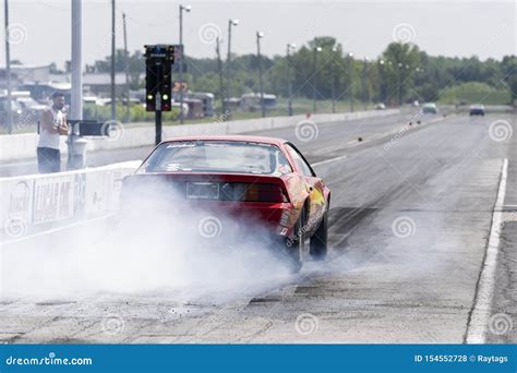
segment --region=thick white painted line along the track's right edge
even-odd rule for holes
[[[467,344],[484,344],[486,326],[489,325],[492,299],[495,286],[495,269],[497,267],[497,253],[500,246],[500,230],[503,220],[504,197],[506,194],[506,179],[508,177],[508,159],[504,159],[501,171],[500,188],[492,215],[489,245],[484,257],[483,268],[478,284],[474,305],[467,325]]]

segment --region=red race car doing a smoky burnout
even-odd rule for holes
[[[290,142],[261,136],[185,136],[165,141],[123,180],[122,203],[160,182],[190,209],[257,221],[294,272],[309,239],[315,260],[327,253],[330,190]]]

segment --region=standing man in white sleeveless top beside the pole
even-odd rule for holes
[[[41,113],[39,124],[38,170],[40,173],[59,172],[61,170],[59,136],[69,133],[62,93],[52,94],[52,107]]]

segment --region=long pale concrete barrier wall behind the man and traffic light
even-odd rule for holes
[[[356,111],[346,113],[322,113],[311,117],[316,123],[349,121],[371,117],[385,117],[398,113],[399,109],[378,111]],[[167,125],[164,127],[163,139],[170,139],[182,135],[200,134],[237,134],[252,131],[264,131],[285,127],[294,127],[305,119],[305,116],[294,117],[272,117],[236,121],[215,121],[211,123]],[[121,127],[121,131],[116,132],[112,139],[88,139],[87,151],[128,148],[151,145],[154,143],[154,125],[147,123],[142,127]],[[36,145],[38,135],[36,133],[23,133],[13,135],[0,135],[0,161],[19,160],[34,158],[36,156]],[[67,153],[65,137],[61,137],[61,151]]]

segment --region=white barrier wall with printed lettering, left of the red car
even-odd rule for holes
[[[16,239],[73,219],[116,212],[122,179],[140,164],[136,160],[80,171],[0,178],[0,233]]]

